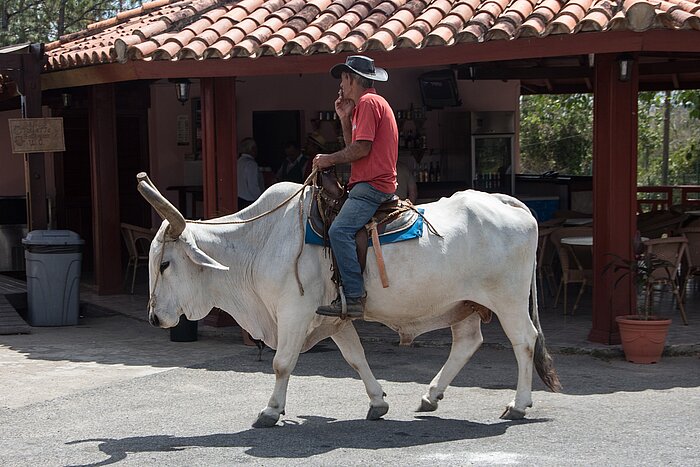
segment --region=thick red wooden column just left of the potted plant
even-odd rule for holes
[[[633,257],[637,231],[637,93],[636,61],[630,77],[620,79],[613,54],[595,56],[593,108],[593,323],[588,339],[618,344],[615,316],[634,313],[636,289],[629,275],[613,287],[603,275],[609,254]]]

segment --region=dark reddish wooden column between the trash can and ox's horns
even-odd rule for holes
[[[122,291],[117,127],[113,84],[89,94],[90,179],[95,281],[100,295]]]

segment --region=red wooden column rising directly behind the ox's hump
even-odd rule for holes
[[[207,218],[238,210],[235,86],[234,78],[201,81],[204,215]]]

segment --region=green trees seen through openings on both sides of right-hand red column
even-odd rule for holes
[[[664,99],[639,93],[639,185],[663,180]],[[700,184],[700,91],[673,91],[670,103],[668,183]],[[523,96],[520,112],[521,172],[591,175],[592,94]]]

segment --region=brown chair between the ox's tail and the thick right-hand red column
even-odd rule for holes
[[[561,281],[559,281],[559,289],[557,297],[554,299],[554,306],[559,303],[559,295],[564,291],[564,314],[567,313],[568,297],[567,288],[569,284],[581,284],[578,297],[571,310],[573,315],[578,307],[583,290],[587,284],[593,284],[593,250],[591,247],[576,248],[562,244],[561,240],[567,237],[587,237],[593,236],[592,227],[562,227],[553,231],[549,238],[552,241],[557,253],[559,254],[559,263],[561,265]]]

